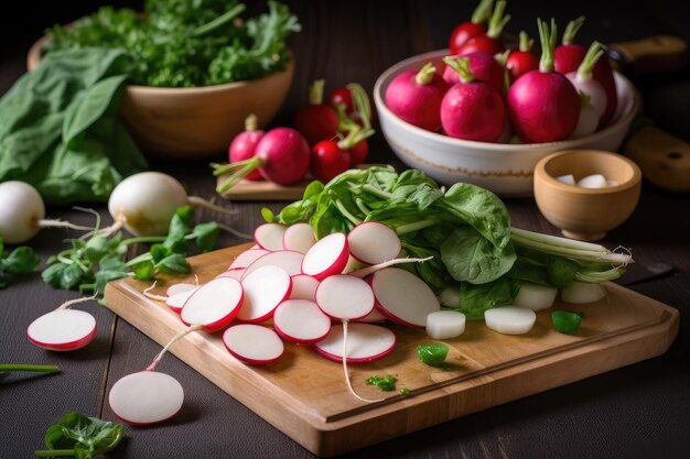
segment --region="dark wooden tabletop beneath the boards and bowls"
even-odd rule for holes
[[[25,4],[24,4],[25,3]],[[94,8],[24,2],[17,17],[3,13],[0,50],[0,94],[24,72],[24,55],[45,26],[65,22]],[[57,3],[57,2],[56,2]],[[115,2],[126,4],[127,2]],[[137,4],[136,2],[129,2]],[[297,74],[289,99],[274,124],[285,124],[308,85],[324,77],[328,88],[359,81],[370,89],[391,64],[445,47],[453,25],[468,18],[474,1],[290,1],[303,24],[292,40]],[[514,1],[508,6],[513,32],[535,31],[538,15],[556,17],[560,24],[585,14],[583,42],[605,43],[650,34],[676,33],[689,39],[690,14],[682,2],[580,1],[571,4]],[[36,13],[42,11],[42,13]],[[31,18],[31,19],[30,19]],[[36,21],[36,18],[40,21]],[[533,33],[533,32],[532,32]],[[690,74],[688,70],[635,79],[645,98],[646,114],[662,128],[690,141]],[[1,120],[0,120],[1,121]],[[223,160],[219,155],[218,160]],[[373,161],[396,162],[380,134],[373,141]],[[151,167],[175,175],[194,194],[214,196],[207,161],[175,163],[152,160]],[[530,198],[506,204],[513,223],[556,233]],[[542,394],[466,416],[353,452],[348,457],[390,458],[688,458],[690,457],[690,200],[645,183],[633,217],[611,231],[604,243],[632,248],[638,264],[667,262],[672,275],[630,285],[642,294],[680,309],[680,332],[668,352],[627,368],[569,384]],[[259,209],[280,203],[224,203],[239,217],[226,222],[249,232],[260,221]],[[106,220],[104,206],[96,206]],[[48,216],[87,223],[89,218],[69,208],[50,208]],[[202,218],[222,217],[203,214]],[[31,245],[45,260],[77,236],[66,230],[43,231]],[[223,236],[219,243],[242,242]],[[60,374],[0,375],[0,458],[32,456],[43,446],[48,425],[69,412],[115,419],[107,394],[115,381],[139,371],[160,350],[144,335],[108,309],[88,308],[98,321],[90,346],[56,353],[31,346],[25,328],[75,292],[56,291],[39,274],[17,280],[0,291],[0,362],[58,364]],[[161,370],[185,387],[184,409],[173,420],[147,427],[126,427],[126,439],[108,457],[118,458],[306,458],[313,457],[290,438],[217,389],[173,356]]]

